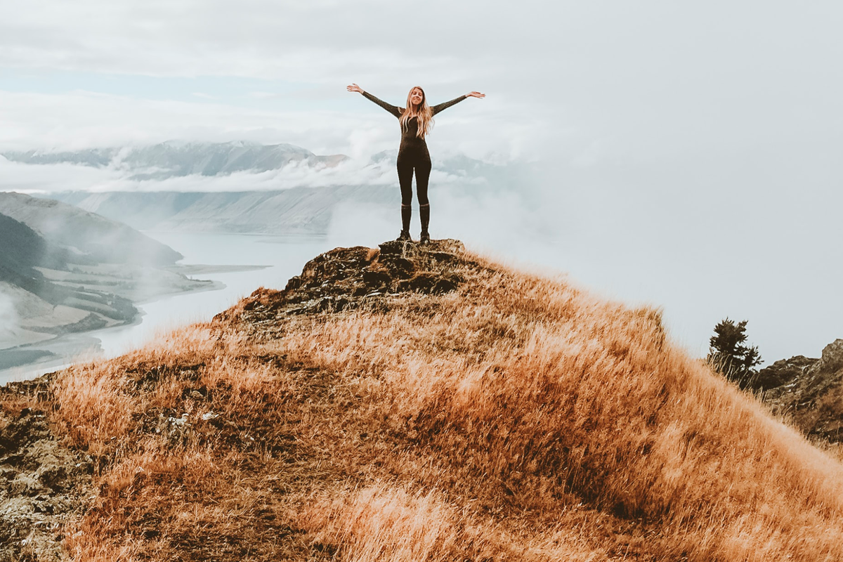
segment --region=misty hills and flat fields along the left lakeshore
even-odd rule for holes
[[[125,224],[30,195],[0,192],[0,240],[0,380],[71,352],[58,336],[131,323],[133,302],[215,286],[182,275],[181,254]]]

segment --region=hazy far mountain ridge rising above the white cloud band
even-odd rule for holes
[[[28,164],[71,163],[94,168],[124,169],[131,179],[167,179],[191,174],[212,176],[234,172],[266,172],[290,163],[332,167],[348,157],[318,156],[292,144],[262,145],[252,142],[162,142],[151,147],[90,148],[75,152],[3,153],[13,162]]]

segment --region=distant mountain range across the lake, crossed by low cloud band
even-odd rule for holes
[[[287,187],[289,181],[283,182],[287,188],[283,190],[248,190],[250,182],[244,179],[242,191],[235,187],[233,191],[210,192],[209,185],[209,192],[149,187],[131,191],[51,192],[39,196],[78,206],[138,230],[319,235],[327,232],[336,206],[342,203],[398,204],[397,154],[396,150],[376,153],[368,161],[358,162],[357,168],[350,167],[347,174],[334,174],[330,181],[317,182],[312,179],[314,174],[319,174],[319,167],[336,166],[348,158],[341,154],[317,156],[290,144],[250,142],[164,142],[152,147],[94,148],[67,153],[29,151],[4,156],[30,165],[70,163],[108,167],[125,174],[126,178],[150,181],[234,172],[259,174],[298,163],[313,167],[314,173],[301,174],[300,185],[295,184],[295,179],[293,187]],[[433,169],[437,175],[433,189],[448,189],[479,200],[495,192],[522,188],[532,173],[529,166],[496,165],[463,155],[434,158]],[[298,171],[293,176],[298,177]],[[314,183],[321,186],[313,187]],[[196,185],[201,190],[201,182],[196,182],[194,189]],[[523,196],[524,190],[519,190],[519,194]]]

